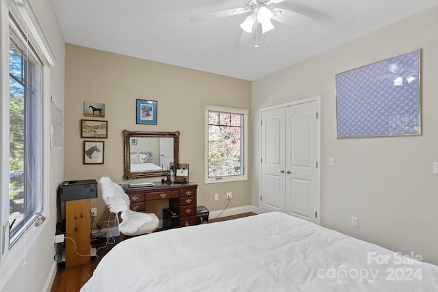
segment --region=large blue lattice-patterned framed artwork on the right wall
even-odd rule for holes
[[[420,52],[336,75],[338,138],[421,134]]]

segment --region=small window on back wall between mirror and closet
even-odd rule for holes
[[[205,183],[247,179],[248,111],[207,105]]]

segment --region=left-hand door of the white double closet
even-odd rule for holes
[[[261,213],[285,211],[285,108],[261,113]]]

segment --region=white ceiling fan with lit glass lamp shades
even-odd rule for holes
[[[278,4],[285,0],[245,0],[244,8],[231,8],[207,12],[190,17],[190,21],[206,21],[214,18],[228,17],[238,14],[249,13],[240,27],[247,33],[253,32],[253,27],[261,25],[261,33],[274,29],[272,21],[278,21],[292,27],[309,29],[313,26],[313,19],[284,8],[271,8],[272,4]]]

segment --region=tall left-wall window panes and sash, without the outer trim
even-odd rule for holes
[[[9,225],[12,242],[41,211],[42,64],[13,21],[9,39]]]

